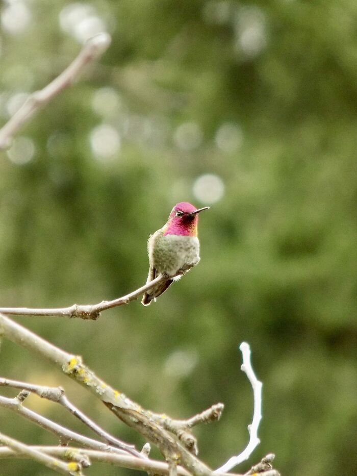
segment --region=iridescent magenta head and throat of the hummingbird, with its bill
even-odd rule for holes
[[[170,213],[164,235],[197,236],[198,213],[209,208],[197,209],[187,202],[178,203]]]

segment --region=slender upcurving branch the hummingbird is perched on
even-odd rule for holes
[[[81,319],[97,319],[101,311],[107,309],[122,306],[123,304],[129,304],[131,301],[137,299],[144,294],[145,291],[151,289],[153,286],[166,281],[167,277],[163,277],[161,274],[155,278],[155,280],[146,283],[141,288],[126,294],[125,296],[118,297],[112,301],[102,301],[93,305],[79,305],[73,304],[67,308],[49,308],[49,309],[31,309],[31,308],[0,308],[0,312],[4,314],[11,314],[13,316],[53,316],[53,317],[80,317]]]

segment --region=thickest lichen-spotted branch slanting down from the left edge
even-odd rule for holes
[[[180,462],[194,476],[212,475],[210,468],[152,418],[152,412],[142,409],[140,405],[99,379],[82,363],[81,357],[67,354],[2,314],[0,314],[0,332],[4,337],[49,360],[66,375],[90,390],[124,423],[156,444],[168,461]]]

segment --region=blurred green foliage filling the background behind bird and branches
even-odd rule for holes
[[[200,216],[201,262],[156,304],[134,302],[96,322],[17,320],[83,355],[146,408],[184,418],[223,402],[221,421],[195,431],[199,456],[213,467],[247,442],[252,395],[238,351],[245,340],[264,383],[262,442],[236,469],[273,452],[290,476],[351,474],[357,4],[20,3],[28,13],[22,29],[20,17],[11,23],[7,4],[1,12],[2,123],[18,93],[43,87],[77,55],[74,37],[95,27],[88,17],[103,22],[113,43],[81,82],[20,131],[27,159],[16,150],[1,153],[1,305],[88,304],[136,289],[146,280],[149,233],[177,202],[210,205],[210,190],[199,195],[193,187],[202,174],[214,174],[224,193]],[[73,5],[87,8],[81,28],[80,15],[69,15]],[[108,129],[93,135],[103,124],[109,152]],[[2,375],[62,384],[98,423],[143,444],[36,356],[5,341],[0,357]],[[54,405],[35,397],[29,404],[89,434]],[[57,444],[6,410],[0,418],[11,436]],[[9,460],[0,473],[50,472]]]

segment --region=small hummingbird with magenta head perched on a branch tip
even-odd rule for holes
[[[198,208],[190,203],[175,205],[167,223],[147,242],[149,255],[149,275],[147,283],[160,273],[167,277],[185,274],[199,262],[199,241],[197,238],[198,213],[210,207]],[[176,277],[175,281],[181,276]],[[160,296],[173,279],[167,279],[145,292],[141,304],[148,306],[152,299]]]

